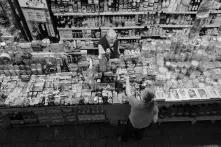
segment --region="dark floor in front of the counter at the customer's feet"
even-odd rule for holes
[[[0,130],[0,147],[221,147],[221,122],[150,126],[142,141],[120,143],[122,127],[108,124]]]

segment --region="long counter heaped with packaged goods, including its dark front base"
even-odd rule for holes
[[[119,59],[98,59],[74,42],[2,46],[1,125],[123,123],[132,91],[154,87],[159,122],[220,120],[220,38],[144,39]]]

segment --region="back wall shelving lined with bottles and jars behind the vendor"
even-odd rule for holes
[[[108,29],[115,29],[123,40],[141,40],[142,37],[130,38],[128,36],[142,36],[143,29],[150,30],[156,25],[160,29],[151,30],[154,33],[145,36],[153,39],[156,36],[165,38],[165,36],[173,35],[173,32],[168,33],[168,30],[176,32],[178,29],[190,29],[201,3],[202,1],[196,0],[190,0],[188,4],[182,1],[165,0],[148,2],[129,0],[76,0],[73,2],[67,0],[52,1],[51,9],[57,19],[57,28],[62,41],[79,40],[75,39],[75,32],[78,31],[82,31],[82,36],[90,35],[100,38]],[[221,10],[218,3],[212,3],[212,7],[209,8],[209,18],[204,26],[208,30],[220,27]],[[69,35],[64,37],[66,33]],[[82,40],[86,39],[82,37]]]

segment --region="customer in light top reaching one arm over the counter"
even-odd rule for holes
[[[126,94],[129,99],[131,111],[127,127],[119,137],[119,141],[127,141],[129,137],[142,139],[145,128],[158,119],[158,106],[153,100],[155,92],[153,89],[145,89],[140,97],[131,94],[129,77],[126,77]]]

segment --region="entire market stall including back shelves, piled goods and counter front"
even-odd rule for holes
[[[2,12],[12,8],[0,16],[2,24],[13,13],[24,39],[33,39],[0,27],[0,126],[125,123],[125,75],[135,97],[155,89],[159,123],[221,119],[219,1],[0,4]],[[97,56],[99,39],[110,29],[118,59]]]

